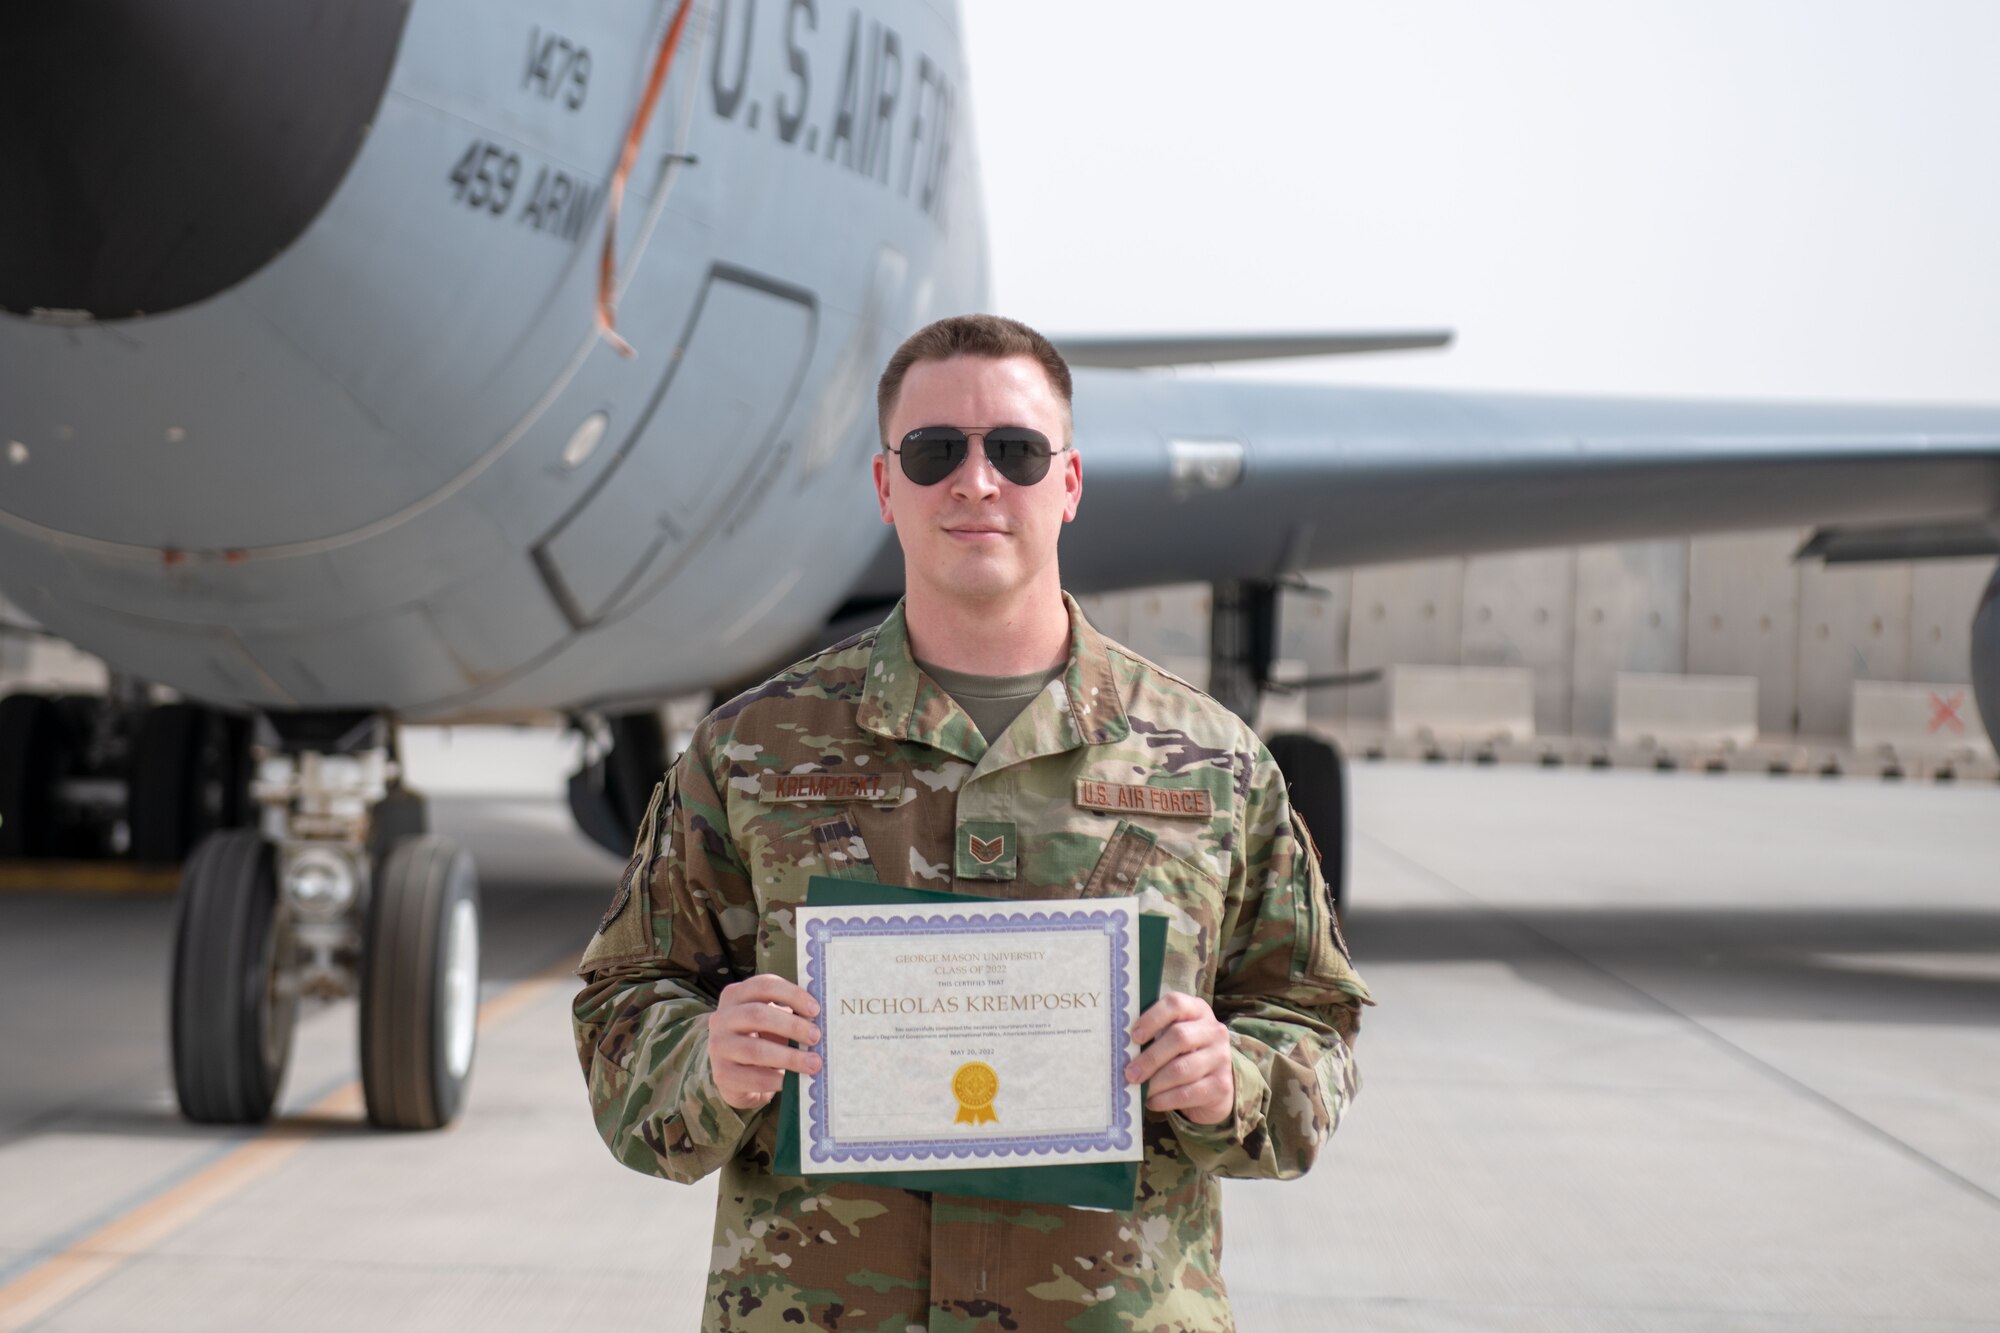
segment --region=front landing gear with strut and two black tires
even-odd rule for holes
[[[438,1129],[466,1099],[480,991],[472,857],[424,833],[386,719],[270,717],[258,831],[182,873],[174,1087],[188,1119],[270,1117],[302,1001],[360,997],[368,1119]]]

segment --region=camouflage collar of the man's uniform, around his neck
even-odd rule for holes
[[[1126,721],[1118,677],[1112,673],[1110,640],[1090,626],[1084,608],[1068,592],[1062,594],[1062,606],[1070,612],[1070,664],[1014,719],[998,743],[988,745],[964,709],[918,671],[902,602],[896,602],[876,630],[856,725],[890,741],[940,749],[982,769],[1124,741],[1132,723]]]

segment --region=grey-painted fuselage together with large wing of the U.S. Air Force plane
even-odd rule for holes
[[[892,590],[874,376],[986,304],[956,10],[698,8],[618,226],[622,360],[592,332],[602,190],[670,12],[418,0],[272,262],[158,316],[0,318],[0,590],[200,699],[416,719],[740,679]],[[536,78],[550,34],[582,84]],[[1098,370],[1076,422],[1078,590],[2000,508],[1992,408]]]

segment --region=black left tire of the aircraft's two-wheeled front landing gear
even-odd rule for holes
[[[202,839],[180,875],[170,1003],[174,1095],[190,1121],[270,1119],[298,1019],[290,961],[270,843],[250,829]]]

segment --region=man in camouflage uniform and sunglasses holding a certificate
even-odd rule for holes
[[[576,1045],[612,1155],[722,1171],[704,1329],[1228,1329],[1216,1177],[1300,1175],[1354,1097],[1368,991],[1270,753],[1062,592],[1068,402],[1062,358],[1012,320],[940,320],[898,350],[876,492],[904,602],[702,721],[584,955]],[[888,440],[940,424],[964,458],[918,484]],[[992,426],[1042,432],[1060,472],[1004,476]],[[1006,689],[982,683],[1024,699],[994,715]],[[1134,1025],[1130,1213],[772,1175],[772,1095],[818,1059],[790,1045],[818,1037],[792,923],[814,875],[1136,895],[1168,919],[1162,997]]]

